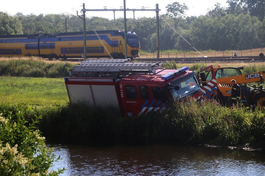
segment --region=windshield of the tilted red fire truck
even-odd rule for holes
[[[194,91],[200,90],[200,86],[193,74],[179,77],[170,84],[174,86],[167,85],[168,89],[171,92],[172,97],[176,97],[177,99],[187,96]],[[176,86],[179,86],[179,89],[175,89]]]

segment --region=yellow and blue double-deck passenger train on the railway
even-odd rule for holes
[[[125,58],[124,31],[86,32],[87,58]],[[59,33],[58,35],[0,35],[0,57],[40,56],[43,58],[82,58],[84,53],[83,32]],[[134,32],[127,32],[127,56],[140,57],[140,43]]]

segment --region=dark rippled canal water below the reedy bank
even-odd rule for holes
[[[204,146],[49,144],[62,175],[265,175],[265,154]]]

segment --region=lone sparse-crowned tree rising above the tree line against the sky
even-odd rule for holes
[[[177,29],[180,18],[184,17],[186,10],[188,10],[188,7],[185,3],[173,2],[166,6],[167,15],[173,18],[175,29]]]

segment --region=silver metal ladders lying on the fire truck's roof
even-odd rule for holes
[[[69,71],[75,76],[112,75],[124,76],[134,73],[157,74],[166,68],[163,63],[131,63],[129,59],[91,59],[74,66]]]

